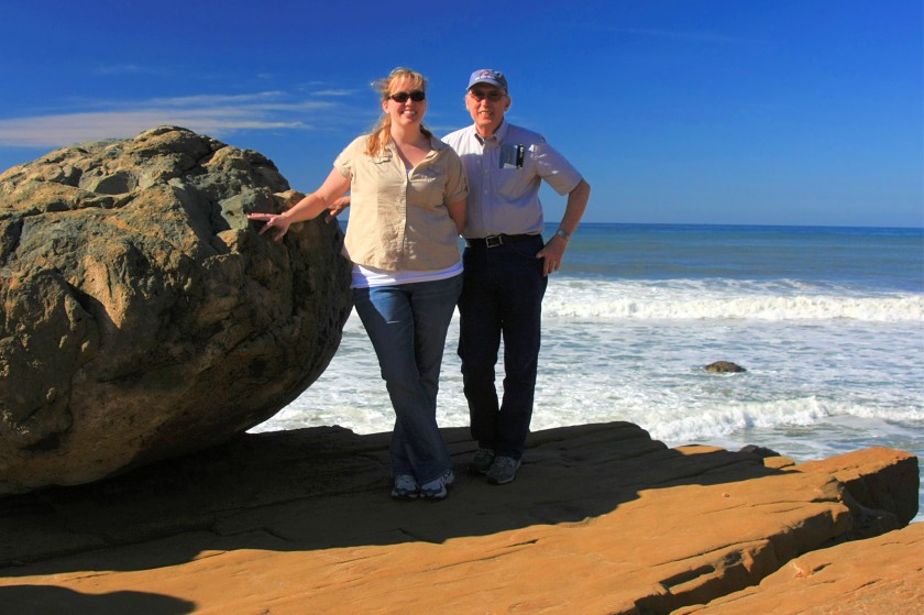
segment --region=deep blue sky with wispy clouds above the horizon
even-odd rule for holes
[[[923,24],[921,0],[9,0],[0,169],[177,124],[309,191],[373,79],[424,73],[442,135],[491,67],[593,186],[586,221],[921,227]]]

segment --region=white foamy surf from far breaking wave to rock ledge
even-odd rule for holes
[[[760,292],[557,279],[543,304],[532,428],[626,420],[668,446],[752,443],[796,461],[883,446],[924,458],[924,298],[754,286]],[[458,327],[457,317],[440,383],[442,427],[469,425]],[[717,360],[748,371],[703,370]],[[322,376],[253,431],[340,425],[372,433],[394,420],[353,314]]]

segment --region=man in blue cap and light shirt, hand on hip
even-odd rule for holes
[[[469,469],[502,485],[516,479],[529,433],[548,276],[561,265],[591,187],[542,135],[505,121],[510,96],[503,74],[475,70],[465,107],[474,124],[443,141],[469,175],[459,299],[459,356],[472,437],[479,442]],[[564,216],[548,243],[541,235],[542,180],[568,195]],[[502,337],[504,395],[498,402],[494,366]]]

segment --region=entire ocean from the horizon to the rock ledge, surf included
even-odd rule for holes
[[[627,420],[671,447],[759,444],[802,462],[880,446],[924,460],[924,229],[583,223],[543,323],[535,430]],[[442,427],[468,426],[458,327]],[[747,371],[704,370],[721,360]],[[252,431],[393,424],[353,312],[321,377]]]

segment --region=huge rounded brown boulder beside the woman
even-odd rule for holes
[[[340,230],[246,219],[293,196],[172,127],[0,175],[0,493],[224,441],[320,375],[350,311]]]

